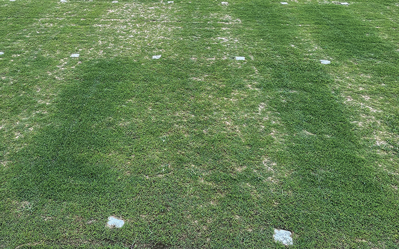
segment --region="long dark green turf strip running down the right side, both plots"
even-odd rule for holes
[[[267,23],[273,23],[278,18],[263,13],[261,9],[247,6],[245,10],[251,11],[251,14],[240,17],[256,16],[259,21],[264,20],[261,23],[264,27],[259,28],[264,32],[257,32],[265,39],[275,37],[270,27],[277,29],[280,23]],[[294,23],[310,24],[313,39],[322,46],[324,55],[338,61],[354,58],[358,62],[383,61],[378,66],[365,65],[366,69],[362,68],[362,71],[372,71],[372,74],[384,77],[384,82],[390,84],[392,90],[388,96],[395,101],[397,79],[391,78],[391,82],[387,79],[398,70],[397,65],[392,64],[398,59],[395,46],[379,38],[375,30],[359,21],[354,16],[355,11],[343,11],[332,5],[317,8],[314,5],[298,6],[292,11],[298,13]],[[281,43],[281,46],[296,44],[296,40],[287,35]],[[320,53],[318,55],[318,58],[313,54],[309,57],[316,57],[316,60],[323,58]],[[306,55],[293,58],[287,54],[283,66],[268,65],[273,69],[274,77],[263,83],[265,88],[272,87],[272,91],[269,90],[270,95],[274,95],[272,105],[280,113],[290,134],[287,151],[278,157],[281,162],[293,166],[294,173],[286,184],[295,190],[293,196],[284,202],[289,215],[282,220],[304,219],[309,226],[318,224],[317,230],[312,231],[317,238],[320,235],[323,238],[334,237],[335,233],[342,233],[339,237],[343,238],[345,233],[349,233],[355,238],[374,237],[373,242],[378,243],[380,232],[386,231],[393,241],[384,246],[395,248],[398,243],[395,225],[398,199],[391,184],[397,182],[397,178],[376,170],[376,165],[370,163],[376,160],[376,156],[367,153],[358,141],[354,126],[349,122],[351,113],[340,103],[340,98],[330,92],[329,85],[334,82],[329,74],[320,70],[322,66],[309,65],[301,58],[308,59]],[[393,110],[391,106],[389,108]],[[314,135],[306,135],[303,130]],[[298,207],[303,212],[294,215],[296,219],[291,218]],[[330,218],[326,219],[327,216]],[[393,223],[384,222],[388,220]],[[362,229],[357,229],[357,226]],[[310,234],[307,236],[311,237]],[[345,247],[347,242],[342,240],[337,243],[336,247]],[[340,243],[343,244],[338,246]]]

